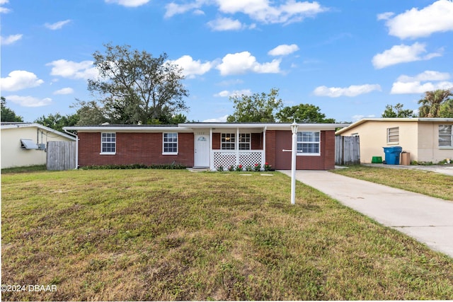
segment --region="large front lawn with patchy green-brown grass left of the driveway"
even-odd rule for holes
[[[286,175],[1,175],[3,301],[453,297],[453,259]]]

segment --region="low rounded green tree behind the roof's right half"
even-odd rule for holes
[[[326,119],[320,108],[311,104],[299,104],[292,107],[285,107],[275,115],[280,122],[299,123],[334,123],[335,119]]]

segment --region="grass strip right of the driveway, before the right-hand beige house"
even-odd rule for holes
[[[453,201],[453,177],[423,170],[351,165],[331,172]]]

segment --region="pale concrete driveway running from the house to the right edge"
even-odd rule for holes
[[[291,177],[290,170],[280,172]],[[453,202],[328,171],[297,170],[296,179],[453,257]]]

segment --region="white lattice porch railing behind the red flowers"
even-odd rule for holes
[[[231,165],[242,165],[245,170],[248,166],[254,168],[256,163],[261,167],[265,164],[263,150],[212,150],[211,158],[211,170],[217,170],[220,166],[226,170]]]

